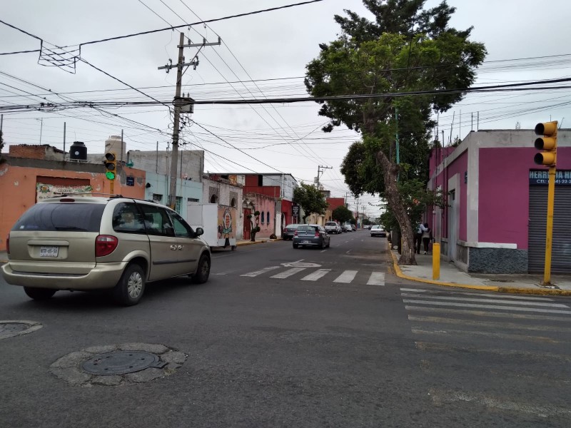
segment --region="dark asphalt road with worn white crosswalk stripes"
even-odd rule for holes
[[[104,292],[34,302],[0,280],[0,320],[42,326],[0,339],[0,426],[571,426],[569,298],[438,288],[388,267],[385,238],[359,231],[327,250],[213,253],[206,284],[148,285],[134,307]],[[117,386],[51,370],[133,342],[188,357]]]

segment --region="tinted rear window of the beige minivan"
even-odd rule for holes
[[[98,232],[104,209],[105,205],[96,203],[38,203],[12,230]]]

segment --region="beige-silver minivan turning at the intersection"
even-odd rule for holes
[[[146,282],[190,275],[208,280],[210,248],[170,208],[123,197],[65,195],[33,205],[6,240],[4,280],[32,299],[57,290],[112,289],[136,305]]]

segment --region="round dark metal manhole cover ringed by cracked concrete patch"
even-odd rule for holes
[[[161,362],[158,355],[143,351],[113,351],[94,355],[81,367],[93,374],[126,374],[140,372],[148,367],[162,369],[166,362]]]

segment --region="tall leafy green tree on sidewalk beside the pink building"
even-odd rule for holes
[[[416,264],[410,186],[403,182],[426,183],[431,114],[463,98],[486,51],[468,40],[471,28],[448,27],[455,8],[446,1],[428,10],[425,0],[363,4],[375,21],[352,11],[335,16],[342,34],[320,44],[319,56],[307,65],[305,86],[315,97],[371,95],[318,101],[319,114],[330,118],[323,131],[344,124],[361,133],[343,162],[345,183],[355,195],[380,193],[387,200],[403,233],[399,263]]]

